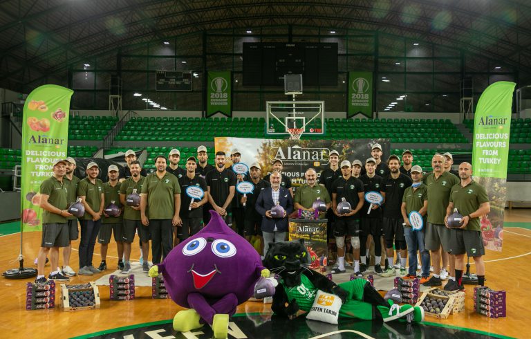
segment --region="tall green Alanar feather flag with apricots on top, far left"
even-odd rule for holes
[[[22,127],[22,232],[42,229],[41,183],[53,174],[53,163],[66,158],[68,111],[74,92],[44,85],[26,99]]]

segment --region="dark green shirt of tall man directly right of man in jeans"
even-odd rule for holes
[[[444,172],[436,179],[435,174],[430,173],[425,183],[428,187],[428,222],[444,225],[451,187],[459,183],[459,178]]]

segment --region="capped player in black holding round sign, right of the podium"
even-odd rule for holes
[[[368,158],[365,161],[365,174],[360,176],[360,180],[363,183],[364,192],[380,192],[382,190],[382,177],[375,174],[376,170],[376,161],[374,158]],[[371,211],[367,213],[367,211]],[[369,257],[369,247],[366,243],[371,243],[369,235],[372,236],[374,240],[374,253],[375,253],[375,273],[382,273],[382,266],[380,266],[382,260],[382,208],[380,205],[364,201],[363,211],[361,213],[361,230],[360,233],[367,237],[366,242],[362,242],[360,248],[360,259],[362,264],[360,265],[360,272],[366,270],[366,265],[369,265],[369,262],[366,260]]]

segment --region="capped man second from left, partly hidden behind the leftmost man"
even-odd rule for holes
[[[75,203],[77,201],[77,184],[80,183],[80,178],[74,175],[75,171],[75,160],[72,157],[64,159],[66,161],[66,174],[63,177],[64,183],[66,186],[66,191],[68,192],[68,205]],[[80,230],[77,226],[77,217],[71,216],[66,217],[68,223],[68,246],[63,248],[63,275],[68,277],[75,276],[75,271],[70,267],[70,255],[72,253],[72,241],[77,240],[80,236]]]

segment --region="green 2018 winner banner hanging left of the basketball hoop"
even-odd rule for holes
[[[216,113],[232,116],[230,71],[208,72],[207,118]]]

